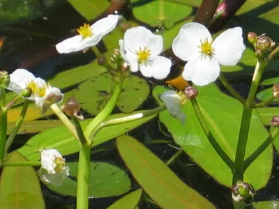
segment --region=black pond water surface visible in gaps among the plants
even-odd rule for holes
[[[82,15],[80,15],[80,13],[77,13],[70,3],[66,1],[53,1],[53,4],[49,3],[50,1],[43,2],[45,4],[43,4],[43,6],[40,5],[40,10],[38,9],[38,4],[34,3],[32,5],[34,8],[38,9],[37,13],[32,13],[31,11],[34,9],[31,10],[30,8],[29,16],[27,17],[19,17],[18,19],[15,18],[15,20],[10,22],[0,22],[0,38],[3,40],[3,47],[0,52],[0,68],[2,70],[13,72],[16,68],[26,68],[33,72],[37,77],[43,77],[44,79],[51,80],[54,79],[60,72],[76,68],[80,65],[86,65],[96,59],[96,56],[93,52],[91,52],[91,50],[84,54],[82,52],[73,54],[58,54],[58,52],[56,52],[54,45],[56,45],[57,42],[75,34],[75,29],[87,21],[84,17],[82,17]],[[140,1],[133,2],[139,3]],[[3,1],[3,3],[0,1],[0,6],[2,4],[5,5],[5,3],[6,1]],[[8,4],[6,4],[6,6],[7,5]],[[11,4],[8,6],[13,7],[16,5]],[[121,14],[125,17],[130,17],[130,8],[127,8],[126,10],[127,11],[121,11]],[[193,15],[196,10],[197,7],[194,7],[194,10],[189,14]],[[8,20],[8,18],[11,17],[6,17],[4,20]],[[135,20],[133,18],[131,18],[131,20],[134,22],[129,22],[129,24],[135,24]],[[170,25],[172,26],[172,24]],[[122,26],[125,27],[125,25]],[[167,26],[169,26],[169,24]],[[160,29],[160,32],[164,33],[162,26],[153,26],[151,29],[153,31]],[[107,43],[101,41],[98,43],[97,47],[100,52],[104,53],[107,50]],[[172,72],[171,77],[177,75],[178,72],[176,71],[179,71],[177,69],[178,68],[174,66],[174,72]],[[94,69],[92,69],[92,71],[93,70]],[[143,78],[140,73],[137,75]],[[227,75],[230,74],[228,73]],[[264,79],[277,77],[278,75],[278,72],[269,72],[264,75]],[[243,95],[243,97],[246,97],[250,87],[250,79],[251,75],[244,75],[241,77],[232,77],[229,82],[233,84],[236,91]],[[156,84],[163,84],[167,86],[163,82],[156,81],[156,79],[146,79],[146,81],[151,89],[153,89]],[[63,88],[63,92],[70,92],[77,88],[79,84],[80,82],[74,83],[73,85],[66,85]],[[229,95],[220,82],[217,82],[217,84],[223,92]],[[259,91],[264,90],[264,88],[266,87],[261,87]],[[20,104],[16,104],[15,108],[17,108],[17,105]],[[272,105],[277,107],[277,104]],[[153,109],[155,107],[157,107],[157,104],[152,95],[149,95],[149,97],[146,98],[138,109]],[[86,110],[83,109],[82,114],[85,118],[91,118],[92,114],[90,111]],[[120,112],[119,108],[116,108],[114,109],[113,114]],[[47,113],[45,116],[37,115],[33,116],[33,118],[39,121],[45,121],[54,120],[56,119],[56,116]],[[13,119],[14,118],[11,120]],[[187,121],[186,123],[191,123],[191,121]],[[53,125],[53,127],[55,126],[56,125]],[[49,127],[44,126],[40,127],[39,132],[43,132],[43,130],[48,128]],[[15,138],[15,142],[13,146],[11,146],[10,151],[23,146],[28,139],[36,134],[35,132],[37,131],[33,131],[31,129],[27,132],[27,134],[20,134]],[[179,149],[179,146],[174,142],[171,134],[167,130],[167,127],[165,127],[163,123],[160,123],[158,118],[153,118],[148,123],[135,128],[135,130],[128,132],[128,135],[135,137],[135,139],[139,139],[142,144],[149,148],[149,150],[156,154],[163,162],[167,162]],[[66,156],[67,162],[77,162],[77,160],[77,153]],[[128,167],[126,167],[126,164],[123,162],[114,140],[93,148],[91,151],[91,161],[108,162],[126,171],[131,180],[130,191],[141,187],[137,183],[137,180],[133,177],[132,173],[130,173]],[[206,161],[206,158],[204,161]],[[186,153],[179,155],[179,157],[177,157],[176,160],[169,165],[169,168],[172,169],[172,171],[174,171],[184,183],[214,203],[216,208],[233,208],[230,189],[220,185],[220,183],[202,170],[199,165],[193,161],[192,157]],[[278,168],[278,152],[274,148],[271,179],[266,187],[257,191],[254,201],[277,200],[279,198]],[[41,187],[43,189],[46,208],[76,207],[76,199],[74,197],[57,194],[51,189],[45,187],[43,183],[41,183]],[[125,196],[125,194],[110,196],[107,198],[92,197],[89,199],[89,208],[107,208],[123,196]],[[156,204],[149,199],[149,196],[144,194],[142,196],[142,201],[140,201],[139,208],[159,208],[159,206],[156,206]],[[250,206],[250,208],[252,208],[252,206]]]

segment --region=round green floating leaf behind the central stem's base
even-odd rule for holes
[[[67,162],[70,176],[60,187],[46,185],[54,192],[76,196],[78,162]],[[130,178],[126,171],[106,162],[90,162],[89,196],[94,198],[118,196],[131,189]]]

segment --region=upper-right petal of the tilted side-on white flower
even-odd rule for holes
[[[119,20],[119,15],[108,15],[107,17],[98,20],[93,25],[91,25],[91,30],[93,34],[98,36],[102,34],[104,36],[107,33],[110,33],[113,29],[115,29],[117,22]]]

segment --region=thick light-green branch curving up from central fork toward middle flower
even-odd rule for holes
[[[112,93],[112,97],[107,102],[107,104],[105,104],[104,109],[100,111],[100,113],[95,118],[93,118],[93,120],[89,123],[89,125],[86,127],[86,130],[84,131],[84,135],[87,139],[91,139],[92,132],[95,131],[95,129],[101,123],[103,123],[103,121],[105,121],[105,119],[108,116],[110,116],[116,105],[116,102],[118,101],[119,95],[122,90],[122,80],[115,80],[115,82],[116,83],[114,84],[114,91]]]

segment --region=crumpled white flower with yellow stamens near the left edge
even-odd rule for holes
[[[50,86],[44,79],[35,77],[28,70],[17,69],[10,74],[10,84],[7,89],[20,95],[24,88],[31,89],[32,94],[27,99],[35,100],[36,105],[42,109],[43,113],[50,105],[63,99],[63,94],[59,88]]]

